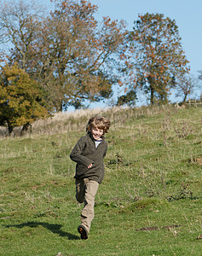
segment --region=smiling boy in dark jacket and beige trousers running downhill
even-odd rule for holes
[[[104,134],[108,132],[110,121],[104,117],[89,119],[87,134],[78,140],[72,149],[71,160],[77,163],[75,183],[76,199],[84,202],[81,224],[78,232],[81,239],[88,239],[91,222],[94,218],[95,195],[104,177],[103,159],[107,153]]]

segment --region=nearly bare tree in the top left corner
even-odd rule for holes
[[[35,47],[43,17],[42,6],[33,1],[5,1],[0,6],[0,38],[9,48],[9,64],[17,61],[26,73],[36,57]]]

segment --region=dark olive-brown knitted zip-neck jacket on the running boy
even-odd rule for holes
[[[104,137],[97,148],[95,148],[95,141],[90,132],[81,137],[70,154],[71,160],[77,163],[75,178],[88,177],[101,183],[105,172],[103,159],[106,153],[107,142]],[[90,164],[93,166],[88,168]]]

